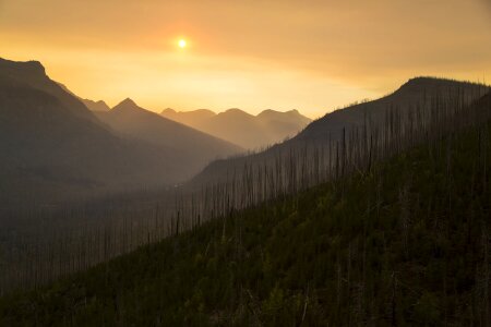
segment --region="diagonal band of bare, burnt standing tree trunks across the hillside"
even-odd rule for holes
[[[468,84],[457,85],[462,87],[443,87],[424,106],[407,109],[404,101],[402,107],[391,106],[376,121],[367,119],[361,126],[343,129],[339,140],[303,146],[287,143],[265,156],[212,165],[218,174],[211,181],[196,179],[157,192],[129,192],[55,209],[26,210],[24,216],[12,216],[15,220],[7,216],[0,229],[0,265],[9,269],[0,269],[0,295],[84,271],[230,210],[370,171],[375,164],[415,146],[488,121],[489,94],[469,104]],[[476,85],[479,93],[486,89]],[[209,170],[202,175],[214,177]]]

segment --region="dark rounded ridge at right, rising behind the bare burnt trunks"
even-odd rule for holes
[[[420,108],[424,112],[438,101],[445,101],[450,98],[458,98],[458,101],[463,104],[470,104],[480,99],[488,92],[489,87],[479,84],[431,77],[414,78],[386,97],[327,113],[310,123],[296,137],[265,152],[213,162],[195,177],[193,183],[201,184],[212,180],[223,180],[226,171],[231,170],[239,173],[247,162],[271,165],[278,154],[287,154],[291,148],[326,145],[330,140],[339,141],[344,131],[348,134],[349,131],[362,128],[366,123],[372,128],[380,126],[384,123],[388,111],[406,117],[411,109]]]

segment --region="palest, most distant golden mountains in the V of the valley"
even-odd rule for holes
[[[188,112],[166,109],[161,116],[248,149],[265,147],[295,136],[311,121],[297,110],[265,110],[252,116],[240,109],[229,109],[218,114],[206,109]]]

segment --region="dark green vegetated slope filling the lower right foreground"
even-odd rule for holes
[[[0,300],[0,325],[490,325],[491,124]]]

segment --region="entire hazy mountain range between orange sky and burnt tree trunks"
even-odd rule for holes
[[[468,104],[488,90],[478,84],[418,77],[386,97],[327,113],[310,124],[296,110],[252,116],[239,109],[218,114],[167,109],[166,118],[131,99],[107,110],[106,104],[82,100],[50,80],[37,61],[0,59],[0,204],[59,203],[190,179],[190,185],[219,182],[227,171],[240,171],[248,162],[271,164],[294,147],[340,140],[343,131],[367,121],[383,124],[390,110],[424,111],[451,94]],[[280,142],[304,125],[286,142],[237,156],[243,148]]]

